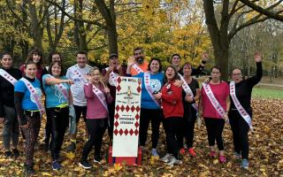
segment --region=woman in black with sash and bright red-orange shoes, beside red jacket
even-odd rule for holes
[[[200,97],[200,87],[198,81],[192,77],[192,65],[190,63],[185,63],[182,69],[183,76],[181,80],[184,82],[182,85],[183,88],[183,105],[184,105],[184,117],[182,119],[182,132],[178,136],[179,150],[180,154],[183,155],[186,153],[186,150],[183,146],[183,137],[186,138],[187,143],[187,152],[195,157],[195,150],[193,149],[194,142],[194,128],[195,120],[198,111],[198,107],[195,104]]]

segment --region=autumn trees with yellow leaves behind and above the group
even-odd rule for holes
[[[234,67],[255,73],[253,55],[264,58],[264,75],[282,76],[282,0],[2,0],[0,50],[15,65],[34,47],[60,51],[66,66],[75,51],[87,50],[95,65],[109,53],[121,61],[141,46],[148,57],[169,65],[173,53],[198,65],[210,54],[225,78]]]

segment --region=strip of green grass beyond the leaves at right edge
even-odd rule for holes
[[[252,97],[283,99],[283,90],[254,88]]]

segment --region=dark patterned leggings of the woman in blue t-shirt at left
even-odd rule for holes
[[[32,166],[34,164],[34,145],[37,140],[39,130],[41,127],[41,117],[40,115],[27,116],[27,128],[22,128],[26,136],[26,162],[27,166]]]

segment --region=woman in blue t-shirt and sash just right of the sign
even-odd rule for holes
[[[151,121],[151,155],[159,157],[157,143],[159,138],[159,125],[161,120],[161,109],[159,101],[154,94],[159,92],[164,83],[164,73],[159,58],[151,58],[147,72],[138,73],[134,77],[142,78],[142,103],[139,140],[142,147],[148,137],[149,121]]]

